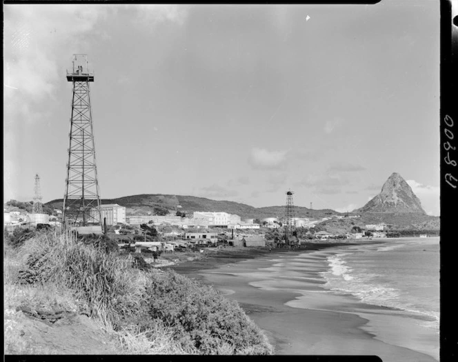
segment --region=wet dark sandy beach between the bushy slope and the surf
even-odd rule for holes
[[[294,252],[264,250],[245,255],[255,259],[229,258],[229,262],[225,257],[209,256],[200,265],[183,263],[174,269],[210,283],[237,300],[266,331],[275,345],[275,354],[376,355],[382,361],[438,361],[438,345],[402,314],[361,303],[350,295],[323,291],[323,281],[317,274],[324,271],[322,260],[341,246],[315,245],[315,250]],[[295,258],[300,258],[297,265]],[[286,259],[295,270],[289,270],[288,278],[283,279]]]

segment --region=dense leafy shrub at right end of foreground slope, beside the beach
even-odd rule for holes
[[[150,315],[172,327],[183,349],[215,353],[230,345],[236,354],[270,354],[266,336],[237,302],[208,285],[173,271],[157,274],[148,288]]]

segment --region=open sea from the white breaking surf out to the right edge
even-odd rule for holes
[[[327,262],[324,288],[404,311],[439,330],[439,238],[350,247]]]

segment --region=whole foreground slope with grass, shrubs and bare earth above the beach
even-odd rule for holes
[[[172,270],[142,270],[117,250],[46,232],[19,245],[5,239],[3,273],[6,354],[75,353],[78,325],[86,350],[75,354],[273,353],[237,302]],[[69,326],[61,345],[26,339],[37,328],[64,336]]]

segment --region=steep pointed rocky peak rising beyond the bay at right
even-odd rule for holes
[[[381,192],[358,211],[426,214],[412,188],[397,172],[388,177]]]

